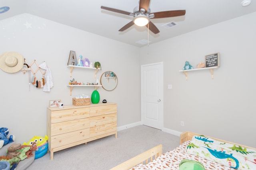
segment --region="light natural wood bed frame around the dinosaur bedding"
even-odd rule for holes
[[[201,134],[193,133],[193,132],[190,132],[190,131],[186,131],[186,132],[180,134],[180,144],[191,140],[194,135],[201,135]],[[205,136],[205,137],[209,137],[209,136]],[[224,141],[222,139],[217,139],[217,138],[214,138],[214,137],[209,137],[209,138],[256,150],[256,148],[248,147],[248,146],[245,146],[245,145],[240,145],[240,144],[237,144],[237,143],[232,143],[232,142],[229,142],[229,141]],[[141,153],[141,154],[125,161],[125,162],[123,162],[122,164],[119,164],[119,165],[115,166],[114,168],[111,168],[110,170],[128,170],[128,169],[130,169],[130,168],[132,168],[132,167],[134,167],[138,164],[147,164],[149,160],[152,161],[155,158],[157,158],[158,156],[160,156],[161,154],[162,154],[162,145],[158,145],[158,146],[156,146],[152,149],[147,150],[146,152],[143,152],[143,153]]]

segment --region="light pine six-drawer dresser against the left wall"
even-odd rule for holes
[[[117,104],[47,108],[47,136],[50,158],[53,153],[109,135],[117,138]]]

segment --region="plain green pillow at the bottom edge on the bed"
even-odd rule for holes
[[[179,170],[205,170],[205,169],[200,162],[196,162],[195,160],[183,159],[180,162]]]

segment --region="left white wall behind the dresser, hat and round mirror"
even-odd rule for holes
[[[31,24],[28,27],[24,24]],[[69,80],[94,82],[94,71],[74,69],[70,78],[67,68],[70,50],[76,51],[91,62],[99,61],[102,70],[111,70],[118,76],[114,91],[98,88],[100,102],[118,104],[118,126],[140,121],[140,63],[139,48],[66,25],[44,20],[30,14],[22,14],[0,21],[0,54],[16,51],[28,63],[46,61],[54,78],[54,87],[43,92],[28,84],[28,72],[6,73],[0,70],[1,118],[0,127],[8,127],[18,143],[28,142],[34,135],[46,135],[46,108],[49,100],[61,99],[72,105],[72,97],[78,94],[91,95],[94,88],[74,88],[70,96]],[[42,74],[36,74],[42,78]]]

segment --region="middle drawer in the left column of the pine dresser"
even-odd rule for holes
[[[51,134],[52,136],[60,135],[62,133],[68,133],[90,127],[90,118],[77,119],[72,121],[63,121],[59,123],[53,123]]]

